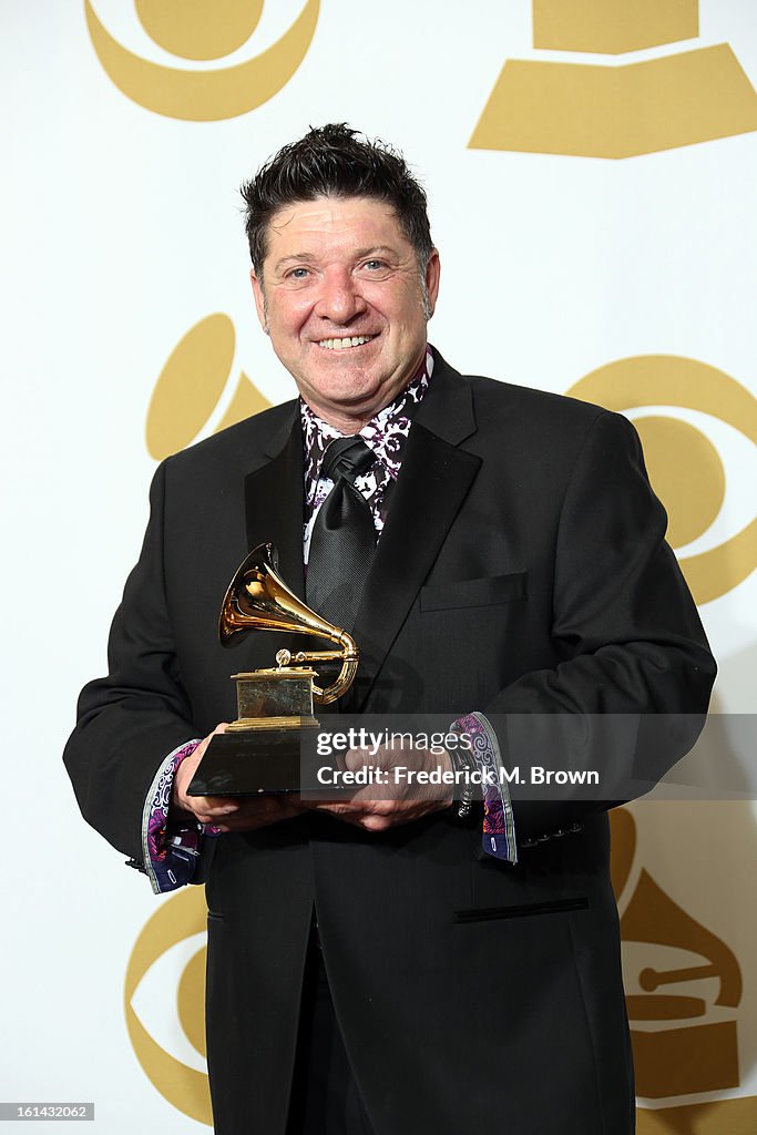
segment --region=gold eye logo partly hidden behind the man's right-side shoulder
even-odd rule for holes
[[[565,393],[622,412],[665,407],[665,413],[630,417],[641,437],[649,479],[668,513],[668,543],[683,553],[681,570],[698,604],[741,583],[757,565],[757,519],[714,547],[685,554],[718,516],[726,477],[709,438],[698,427],[667,413],[667,407],[707,414],[757,443],[755,396],[722,370],[678,355],[619,359],[591,371]]]

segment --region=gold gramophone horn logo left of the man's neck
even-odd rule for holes
[[[227,388],[234,323],[220,312],[190,328],[158,376],[148,410],[148,452],[162,461],[183,449],[211,419]],[[213,432],[266,410],[270,402],[242,371]]]

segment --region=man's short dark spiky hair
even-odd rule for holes
[[[426,193],[402,154],[390,145],[359,135],[346,123],[311,127],[291,142],[242,186],[245,230],[255,275],[266,259],[268,225],[284,205],[316,197],[372,197],[386,201],[413,245],[421,272],[431,249]]]

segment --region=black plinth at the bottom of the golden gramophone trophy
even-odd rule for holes
[[[208,746],[187,789],[188,796],[258,796],[300,792],[302,737],[298,729],[237,728],[217,733]],[[310,777],[306,777],[310,781]]]

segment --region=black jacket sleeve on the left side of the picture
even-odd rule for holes
[[[165,466],[108,642],[109,676],[84,687],[64,760],[84,818],[143,859],[143,813],[166,755],[196,735],[174,648],[163,577]]]

